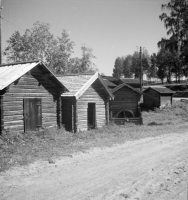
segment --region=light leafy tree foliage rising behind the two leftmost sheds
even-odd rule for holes
[[[93,50],[83,45],[82,57],[72,58],[75,44],[66,30],[55,38],[48,23],[36,22],[23,35],[16,31],[7,43],[4,50],[7,62],[43,60],[55,73],[62,74],[96,71],[92,63]]]

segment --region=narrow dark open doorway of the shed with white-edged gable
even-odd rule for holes
[[[88,103],[87,109],[88,130],[96,128],[96,104]]]

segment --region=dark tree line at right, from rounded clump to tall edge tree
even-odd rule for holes
[[[157,53],[142,55],[143,72],[148,78],[158,77],[162,82],[166,79],[170,83],[172,77],[180,82],[182,76],[188,77],[188,0],[171,0],[162,5],[162,9],[169,13],[159,16],[164,22],[168,39],[162,38],[158,42]],[[139,77],[138,52],[117,59],[121,62],[115,62],[113,76]]]

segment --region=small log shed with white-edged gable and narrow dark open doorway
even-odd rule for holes
[[[84,131],[109,122],[112,93],[99,73],[67,75],[59,80],[70,92],[61,95],[61,123],[68,131]]]

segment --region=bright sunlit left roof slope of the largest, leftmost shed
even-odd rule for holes
[[[38,65],[40,61],[20,64],[7,64],[0,67],[0,90],[10,85],[12,82],[23,76],[33,67]]]

